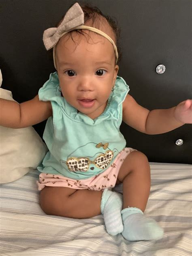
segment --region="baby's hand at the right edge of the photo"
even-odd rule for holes
[[[180,102],[175,107],[175,118],[185,124],[192,124],[192,99]]]

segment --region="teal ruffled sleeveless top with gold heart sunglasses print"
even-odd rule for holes
[[[70,179],[88,179],[111,166],[126,146],[119,127],[122,103],[129,86],[117,76],[104,112],[95,119],[71,106],[59,88],[58,73],[55,72],[38,92],[41,101],[51,101],[53,115],[48,118],[43,133],[49,151],[37,169]]]

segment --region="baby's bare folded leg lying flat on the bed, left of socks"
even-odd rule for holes
[[[40,204],[48,215],[75,219],[90,218],[101,214],[102,191],[45,187],[40,194]]]

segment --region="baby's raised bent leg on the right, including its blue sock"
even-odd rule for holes
[[[122,235],[129,241],[160,239],[163,230],[151,217],[143,214],[150,192],[150,166],[147,157],[130,153],[119,170],[117,179],[123,182]]]

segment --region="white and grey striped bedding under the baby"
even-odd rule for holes
[[[151,194],[145,214],[164,228],[158,241],[110,236],[102,215],[70,219],[45,215],[36,188],[38,171],[0,187],[0,255],[192,255],[191,174],[187,164],[150,163]],[[121,192],[122,185],[115,187]]]

